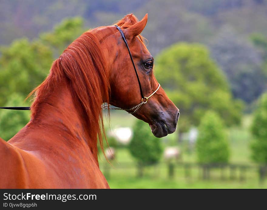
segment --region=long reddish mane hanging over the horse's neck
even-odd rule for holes
[[[99,40],[90,31],[83,33],[53,62],[47,78],[28,95],[35,95],[31,105],[31,122],[35,120],[42,104],[49,103],[48,96],[56,91],[59,81],[66,80],[74,102],[81,107],[87,132],[91,138],[98,136],[103,151],[101,132],[105,136],[105,131],[100,105],[103,100],[109,103],[110,84],[107,74],[106,58],[101,52]],[[96,148],[97,141],[90,144]]]

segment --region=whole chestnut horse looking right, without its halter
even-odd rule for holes
[[[140,35],[147,15],[130,14],[117,25],[124,32],[145,96],[159,86],[153,57]],[[0,188],[109,188],[98,164],[103,102],[121,108],[140,104],[140,87],[117,28],[83,33],[56,59],[33,90],[31,120],[8,142],[0,139]],[[160,87],[133,115],[157,137],[173,133],[178,108]]]

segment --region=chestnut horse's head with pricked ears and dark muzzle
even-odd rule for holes
[[[103,44],[109,58],[110,104],[129,109],[144,102],[132,115],[147,122],[156,137],[163,137],[176,130],[180,114],[154,76],[154,58],[140,35],[146,23],[147,14],[139,22],[130,14],[117,23],[125,35],[137,73],[123,35],[116,25],[108,27],[110,32]]]

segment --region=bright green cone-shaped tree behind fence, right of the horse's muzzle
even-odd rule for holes
[[[205,113],[199,125],[196,152],[200,163],[227,163],[230,150],[220,116],[213,111]]]

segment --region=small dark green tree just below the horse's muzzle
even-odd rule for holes
[[[163,152],[161,140],[154,137],[147,123],[142,120],[137,120],[134,124],[129,150],[137,160],[139,176],[143,175],[142,166],[157,163]]]

